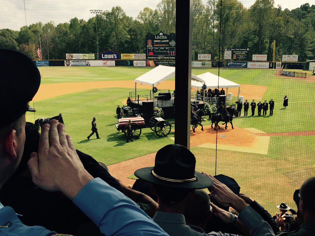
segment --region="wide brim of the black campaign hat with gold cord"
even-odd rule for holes
[[[203,189],[209,188],[213,185],[213,180],[205,176],[202,173],[195,171],[195,176],[197,180],[192,182],[172,182],[167,180],[159,179],[152,175],[153,167],[145,167],[135,171],[135,176],[139,179],[143,179],[147,182],[167,186],[174,188],[188,188],[188,189]]]

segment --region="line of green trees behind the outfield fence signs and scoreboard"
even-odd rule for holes
[[[38,22],[20,31],[1,29],[0,48],[19,50],[37,59],[41,37],[43,59],[65,59],[66,53],[95,53],[97,58],[97,21],[100,52],[145,53],[147,33],[175,32],[175,7],[175,0],[162,0],[156,9],[141,10],[137,19],[116,6],[87,21],[73,18],[58,25]],[[197,59],[198,53],[209,53],[218,60],[220,22],[221,57],[224,48],[249,48],[250,56],[267,54],[271,61],[275,40],[276,61],[283,54],[298,54],[299,61],[315,59],[315,5],[305,3],[289,10],[274,7],[273,0],[256,0],[245,8],[238,0],[224,0],[221,11],[220,0],[205,4],[194,0],[192,59]]]

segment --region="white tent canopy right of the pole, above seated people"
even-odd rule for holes
[[[225,78],[218,77],[210,72],[206,72],[204,74],[198,75],[198,77],[201,79],[201,81],[204,81],[204,82],[192,81],[193,88],[201,88],[203,86],[203,83],[207,85],[207,88],[216,88],[218,87],[218,80],[219,80],[219,88],[240,87],[239,84],[229,81]]]

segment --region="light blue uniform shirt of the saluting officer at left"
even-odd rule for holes
[[[132,200],[100,178],[87,183],[73,199],[76,204],[100,228],[106,236],[167,236],[153,220]],[[0,205],[1,236],[54,236],[56,234],[41,226],[26,226],[14,210]]]

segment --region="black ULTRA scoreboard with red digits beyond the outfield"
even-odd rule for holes
[[[175,60],[175,33],[146,35],[146,59]]]

